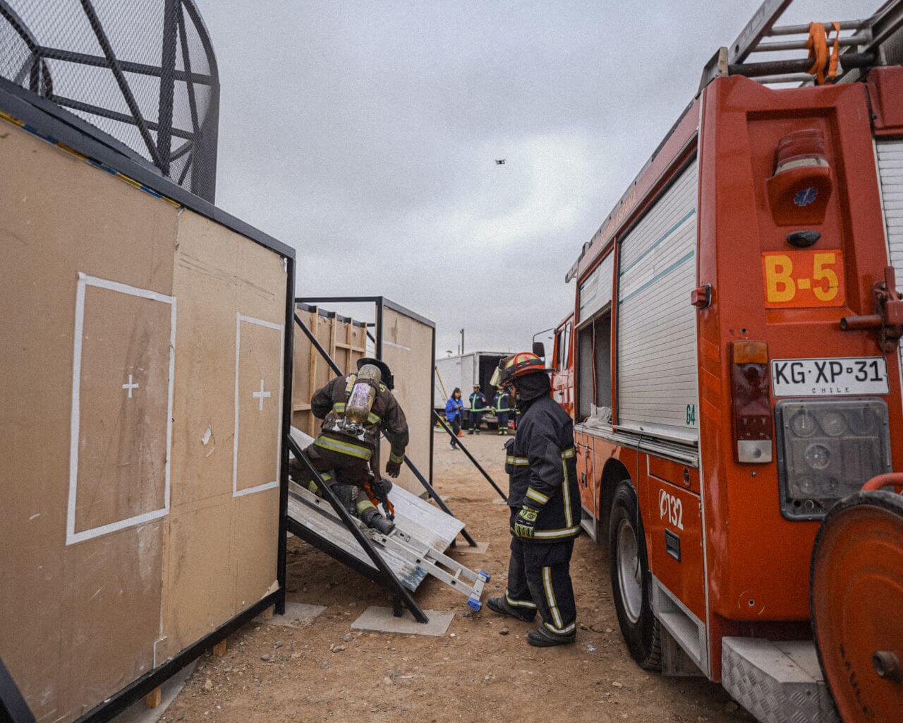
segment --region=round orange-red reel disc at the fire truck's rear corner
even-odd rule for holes
[[[809,592],[815,649],[846,723],[903,710],[903,496],[860,492],[824,518]]]

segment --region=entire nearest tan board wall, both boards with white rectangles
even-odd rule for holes
[[[0,165],[0,655],[69,723],[275,588],[279,491],[233,496],[235,390],[250,490],[279,475],[286,269],[5,121]],[[265,323],[244,361],[238,315]]]

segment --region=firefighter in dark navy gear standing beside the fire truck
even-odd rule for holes
[[[550,396],[544,366],[535,354],[521,352],[503,360],[497,372],[523,416],[515,438],[505,443],[512,534],[507,588],[487,601],[494,612],[526,622],[538,608],[543,624],[526,636],[538,647],[576,637],[570,568],[580,534],[573,423]]]

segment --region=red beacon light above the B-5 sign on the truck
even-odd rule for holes
[[[777,142],[768,202],[778,226],[822,223],[831,191],[831,165],[820,130],[798,130]]]

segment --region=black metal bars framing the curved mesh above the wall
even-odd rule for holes
[[[193,0],[163,0],[163,52],[160,66],[124,61],[116,57],[116,52],[107,37],[103,23],[98,18],[92,0],[79,0],[79,2],[103,55],[89,55],[42,45],[34,33],[23,23],[22,18],[14,12],[7,0],[0,0],[0,17],[13,27],[30,53],[28,60],[16,74],[14,82],[24,80],[24,75],[27,73],[28,88],[58,106],[135,126],[144,142],[147,155],[164,176],[169,177],[173,160],[186,154],[189,155],[177,183],[181,185],[184,182],[189,170],[197,171],[202,168],[203,174],[191,174],[191,192],[213,202],[216,197],[217,136],[219,133],[219,70],[207,27]],[[198,34],[209,65],[209,73],[191,71],[191,56],[188,49],[184,14],[188,14],[191,18],[191,23]],[[180,42],[177,42],[177,39]],[[181,47],[185,70],[175,69],[177,47]],[[47,61],[69,62],[110,70],[129,113],[120,113],[87,100],[70,99],[55,94]],[[156,122],[148,120],[142,114],[126,78],[126,72],[160,79]],[[184,82],[187,87],[189,107],[191,108],[191,131],[172,127],[173,100],[177,80]],[[203,118],[200,118],[198,114],[196,85],[208,86],[210,90],[209,107]],[[156,142],[151,136],[151,131],[157,133]],[[172,150],[173,136],[185,140],[185,143],[175,150]]]

